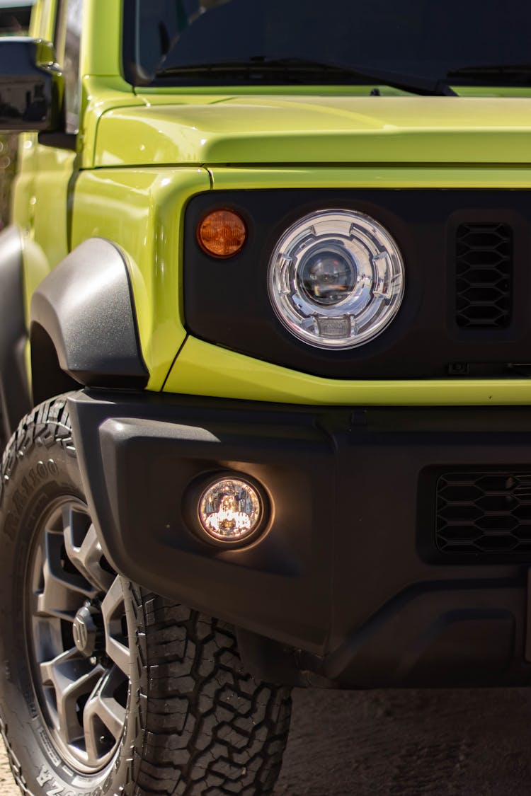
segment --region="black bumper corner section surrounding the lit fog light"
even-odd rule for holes
[[[116,397],[116,396],[114,396]],[[333,447],[311,416],[262,423],[184,401],[69,401],[84,481],[111,563],[131,579],[236,625],[321,650],[333,544],[319,488],[334,494]],[[304,464],[303,464],[304,462]],[[236,470],[275,494],[260,543],[220,550],[183,517],[202,474]],[[308,608],[312,606],[312,610]]]

